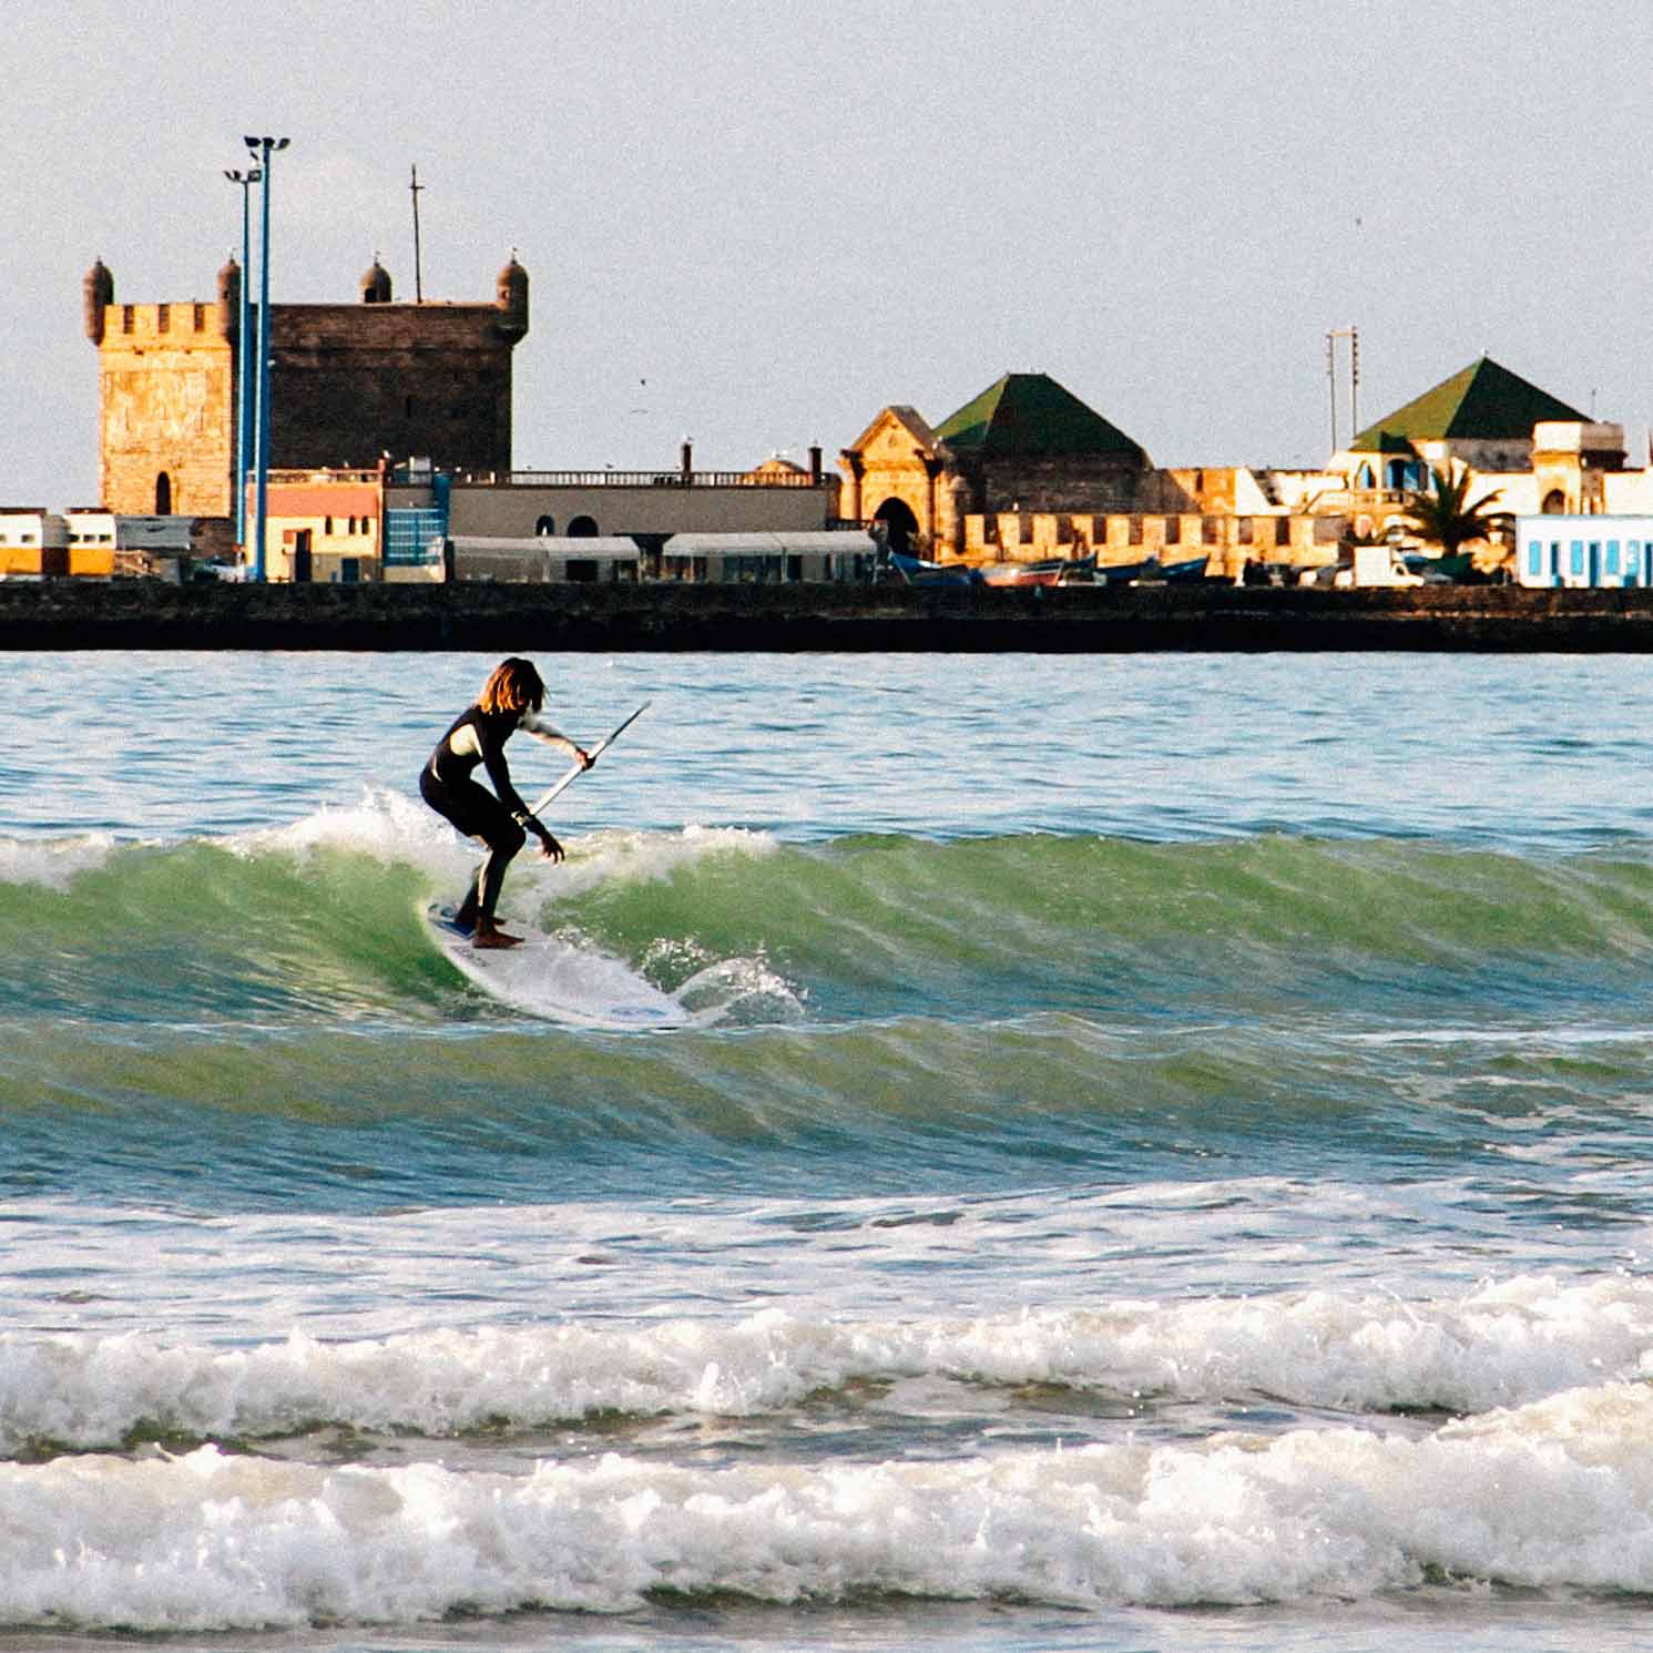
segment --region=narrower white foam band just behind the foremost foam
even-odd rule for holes
[[[602,1412],[754,1417],[851,1380],[1055,1384],[1122,1397],[1271,1395],[1346,1410],[1521,1405],[1653,1377],[1653,1284],[1512,1279],[1460,1299],[1312,1293],[974,1321],[835,1322],[779,1309],[430,1331],[250,1349],[149,1337],[0,1336],[0,1448],[119,1443],[139,1423],[200,1438],[326,1420],[441,1436]]]

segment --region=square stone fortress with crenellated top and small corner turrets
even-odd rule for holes
[[[99,364],[104,507],[231,516],[240,264],[218,271],[212,304],[117,304],[102,260],[83,291]],[[375,260],[359,304],[271,304],[271,468],[367,469],[388,453],[509,471],[511,352],[527,327],[527,271],[514,255],[493,302],[398,304]]]

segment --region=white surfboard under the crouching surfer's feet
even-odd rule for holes
[[[519,947],[473,947],[469,932],[453,922],[453,911],[426,907],[431,941],[468,982],[514,1010],[607,1033],[683,1028],[693,1022],[683,1005],[622,959],[532,931]],[[521,934],[521,926],[511,929]]]

